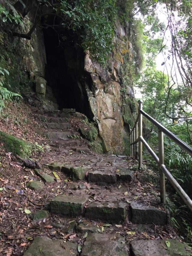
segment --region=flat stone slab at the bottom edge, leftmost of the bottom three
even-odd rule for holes
[[[51,240],[47,236],[35,237],[24,256],[69,256],[76,255],[77,244],[62,239]]]

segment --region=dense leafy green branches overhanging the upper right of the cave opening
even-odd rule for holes
[[[57,1],[54,8],[63,18],[62,25],[79,36],[84,51],[106,64],[113,48],[116,0],[63,0]]]

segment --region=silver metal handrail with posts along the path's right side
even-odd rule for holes
[[[171,183],[171,185],[176,189],[182,200],[186,203],[189,209],[192,211],[192,200],[190,197],[185,193],[176,179],[172,176],[172,174],[167,170],[166,166],[164,165],[164,139],[163,133],[167,135],[170,139],[172,139],[177,145],[179,145],[184,151],[186,151],[189,155],[192,156],[192,148],[188,146],[184,141],[179,139],[175,134],[170,132],[167,128],[157,122],[154,118],[149,116],[146,112],[142,110],[142,101],[139,100],[139,111],[134,123],[133,128],[130,131],[130,152],[131,155],[137,157],[139,155],[139,169],[142,168],[143,165],[143,149],[142,146],[144,145],[152,158],[155,162],[159,165],[159,172],[160,172],[160,197],[161,203],[166,202],[166,194],[165,194],[165,176]],[[159,157],[155,154],[149,144],[143,138],[143,126],[142,126],[142,118],[145,116],[152,124],[154,124],[158,128],[158,141],[159,141]],[[138,131],[139,128],[139,131]],[[137,145],[139,143],[139,146]]]

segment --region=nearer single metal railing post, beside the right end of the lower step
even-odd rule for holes
[[[164,141],[163,132],[158,129],[158,140],[159,140],[159,174],[160,174],[160,197],[161,203],[166,202],[165,198],[165,175],[161,170],[161,164],[164,164]]]

